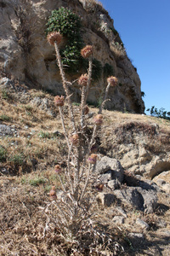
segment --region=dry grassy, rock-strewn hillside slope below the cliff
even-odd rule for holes
[[[1,255],[77,255],[72,251],[77,245],[59,236],[48,195],[52,185],[60,191],[54,165],[65,167],[67,153],[54,96],[5,76],[1,81]],[[79,106],[73,106],[78,114]],[[89,127],[97,112],[90,107]],[[67,106],[64,113],[69,125]],[[100,241],[99,253],[93,254],[88,234],[82,255],[169,255],[169,127],[164,119],[104,111],[96,137],[99,161],[119,160],[123,179],[116,184],[107,176],[103,191],[95,191],[93,221],[110,244]]]

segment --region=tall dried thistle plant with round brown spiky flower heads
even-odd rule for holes
[[[76,119],[74,108],[71,102],[71,93],[68,82],[65,77],[65,70],[59,55],[59,44],[62,41],[62,35],[59,32],[51,32],[48,34],[48,43],[54,46],[56,58],[58,61],[59,72],[62,79],[64,96],[55,96],[54,103],[59,108],[59,114],[65,140],[68,148],[67,166],[63,169],[61,166],[55,166],[55,172],[59,175],[61,188],[63,190],[60,199],[57,198],[55,188],[50,191],[52,198],[51,204],[58,209],[58,217],[56,219],[60,232],[67,241],[73,241],[79,236],[82,227],[90,224],[90,207],[92,206],[94,196],[92,196],[93,184],[96,182],[97,174],[95,172],[96,161],[98,158],[97,149],[95,147],[95,137],[99,127],[103,124],[102,108],[104,107],[108,91],[111,86],[116,86],[117,79],[110,77],[107,79],[104,102],[102,103],[99,113],[94,116],[94,127],[91,136],[87,133],[88,128],[88,106],[87,97],[92,76],[92,57],[94,55],[94,47],[87,45],[81,50],[83,58],[88,59],[88,72],[82,74],[78,79],[78,84],[82,88],[82,101],[79,111],[79,119]],[[71,129],[65,125],[65,116],[63,106],[65,102],[68,104],[68,111],[71,120]]]

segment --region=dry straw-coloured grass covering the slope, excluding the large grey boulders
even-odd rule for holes
[[[21,85],[14,86],[15,90],[21,88]],[[29,101],[20,102],[15,90],[1,91],[0,123],[12,127],[14,135],[0,137],[0,255],[77,255],[73,253],[76,247],[83,248],[82,255],[169,255],[168,235],[159,232],[157,224],[157,220],[163,217],[169,227],[170,205],[162,194],[153,214],[144,215],[124,205],[128,216],[125,224],[111,222],[117,214],[118,202],[109,208],[94,202],[91,211],[94,214],[95,236],[94,230],[89,227],[88,233],[78,237],[79,242],[68,239],[65,243],[61,230],[56,226],[58,210],[48,195],[52,185],[59,189],[54,165],[59,163],[65,167],[66,155],[54,96],[40,90],[28,90],[29,100],[35,96],[48,98],[48,107],[54,113],[50,115]],[[74,108],[77,109],[77,106]],[[90,109],[91,113],[98,112],[96,108]],[[147,134],[151,142],[156,137],[156,125],[162,131],[160,140],[167,142],[169,139],[167,120],[115,111],[105,110],[104,113],[105,125],[100,131],[99,143],[105,150],[107,147],[108,151],[110,147],[114,150],[114,143],[131,140],[133,132]],[[124,137],[125,131],[129,134],[128,138]],[[114,134],[118,142],[113,140]],[[92,190],[92,193],[95,191]],[[137,218],[143,218],[150,224],[150,230],[143,232],[144,240],[129,236],[129,233],[142,231],[135,224]],[[97,249],[94,250],[95,245]]]

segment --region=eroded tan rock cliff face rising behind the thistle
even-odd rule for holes
[[[71,9],[82,18],[83,40],[93,44],[94,57],[113,67],[119,84],[111,89],[108,109],[144,113],[139,75],[128,59],[113,20],[95,1],[85,0],[1,0],[0,1],[0,67],[15,79],[21,79],[54,94],[63,94],[54,48],[47,42],[45,29],[51,11],[61,6]],[[69,75],[75,80],[80,73]],[[105,88],[104,75],[93,81],[88,102],[98,104]],[[75,83],[73,100],[81,92]]]

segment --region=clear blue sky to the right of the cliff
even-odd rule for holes
[[[170,0],[99,0],[141,79],[145,108],[170,111]],[[148,113],[148,112],[146,112]]]

